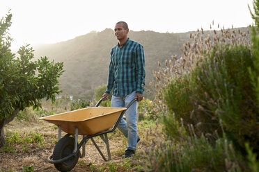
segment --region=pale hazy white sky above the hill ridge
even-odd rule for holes
[[[125,21],[132,31],[181,33],[210,28],[249,26],[253,0],[0,0],[0,16],[9,9],[13,48],[54,43]],[[217,28],[217,27],[216,27]]]

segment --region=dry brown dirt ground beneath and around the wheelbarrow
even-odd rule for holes
[[[6,126],[5,131],[6,133],[17,131],[19,135],[28,132],[40,133],[42,137],[44,137],[45,142],[43,146],[38,146],[36,143],[13,144],[15,153],[1,151],[0,149],[0,171],[24,171],[24,166],[33,166],[33,171],[57,171],[54,164],[47,162],[47,157],[52,155],[57,139],[58,130],[54,125],[45,121],[35,123],[15,120]],[[65,135],[66,133],[62,132],[62,134]],[[125,160],[121,155],[123,155],[125,151],[127,144],[126,139],[120,134],[118,129],[108,136],[111,150],[111,161],[108,163],[123,163]],[[79,139],[81,139],[81,137]],[[107,157],[106,145],[102,139],[95,137],[95,141]],[[136,152],[137,155],[138,152],[140,153],[140,151],[145,148],[144,142],[144,139],[141,138],[138,144],[138,151]],[[97,171],[96,169],[106,164],[107,162],[104,162],[91,140],[89,140],[86,144],[86,156],[79,158],[79,162],[77,162],[77,165],[72,171]],[[95,168],[93,168],[93,166],[95,166]],[[106,168],[103,171],[109,171],[109,169]],[[116,171],[125,171],[125,169],[117,168]],[[134,168],[129,168],[127,171],[134,171]]]

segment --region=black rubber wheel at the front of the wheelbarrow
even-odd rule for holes
[[[53,160],[61,160],[63,157],[71,155],[73,153],[73,150],[74,138],[65,136],[60,139],[54,147],[52,158]],[[54,166],[56,167],[56,169],[58,169],[58,171],[70,171],[77,164],[78,158],[79,152],[64,162],[54,164]]]

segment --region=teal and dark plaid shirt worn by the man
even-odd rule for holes
[[[113,46],[106,93],[110,94],[113,88],[113,96],[127,96],[133,91],[143,94],[145,75],[145,57],[141,44],[128,38],[122,48],[119,44]]]

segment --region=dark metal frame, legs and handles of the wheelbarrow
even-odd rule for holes
[[[97,104],[95,105],[95,107],[98,107],[100,105],[100,103],[102,102],[103,98],[100,99],[100,101],[97,102]],[[129,105],[127,105],[127,109],[137,100],[137,98],[134,98],[130,103]],[[126,109],[126,110],[127,110]],[[81,148],[81,146],[83,146],[82,148],[82,155],[80,155],[79,157],[85,157],[85,153],[86,153],[86,147],[85,147],[85,144],[86,142],[91,139],[91,141],[93,142],[93,144],[95,145],[95,148],[97,148],[98,152],[100,153],[100,155],[102,156],[102,159],[107,162],[109,160],[111,160],[111,152],[110,152],[110,148],[109,148],[109,140],[108,140],[108,133],[109,132],[113,132],[114,130],[116,130],[117,126],[118,126],[118,123],[120,122],[120,120],[123,118],[123,115],[125,114],[126,110],[123,110],[123,112],[121,112],[120,116],[118,117],[115,125],[113,126],[113,128],[109,129],[109,130],[104,130],[102,132],[97,132],[96,134],[93,134],[93,135],[83,135],[83,139],[80,141],[79,145],[78,144],[78,128],[75,127],[74,130],[75,130],[75,134],[74,134],[74,150],[73,150],[73,153],[66,156],[66,157],[63,157],[61,158],[60,160],[53,160],[52,157],[53,157],[53,154],[50,155],[48,158],[47,158],[47,161],[51,164],[58,164],[58,163],[62,163],[62,162],[65,162],[66,160],[69,160],[71,157],[74,157],[75,155],[77,155],[77,153],[79,153],[79,150]],[[72,134],[67,134],[65,135],[64,137],[69,137],[70,135]],[[104,141],[104,143],[106,144],[107,146],[107,154],[108,154],[108,159],[106,157],[104,157],[104,154],[102,153],[102,151],[100,150],[99,146],[97,146],[95,140],[93,139],[93,137],[97,137],[97,136],[100,136],[101,139]],[[61,126],[58,126],[58,141],[61,139]]]

